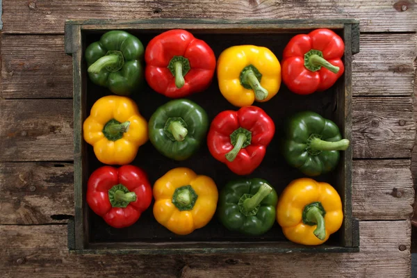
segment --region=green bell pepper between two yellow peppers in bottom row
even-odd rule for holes
[[[231,231],[259,236],[276,220],[278,196],[264,179],[230,181],[220,192],[218,217]]]

